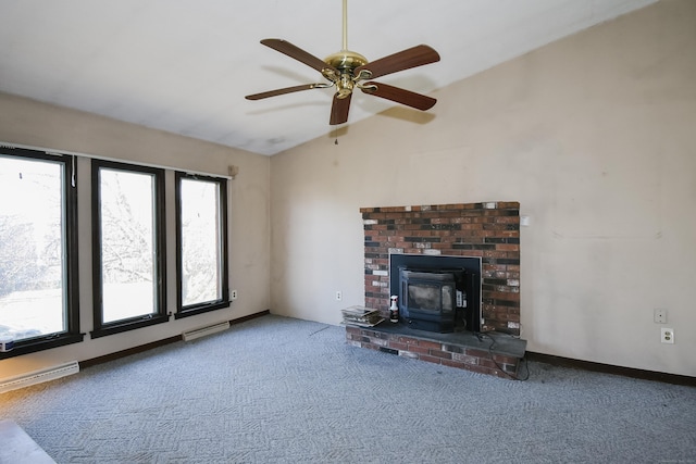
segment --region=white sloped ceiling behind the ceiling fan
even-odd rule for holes
[[[428,93],[654,1],[349,0],[348,48],[375,60],[430,45],[440,62],[378,79]],[[259,41],[323,59],[341,48],[341,0],[0,0],[0,91],[272,155],[332,131],[333,89],[245,100],[325,81]],[[348,124],[393,105],[358,92]]]

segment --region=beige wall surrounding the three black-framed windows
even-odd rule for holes
[[[186,317],[166,324],[132,330],[82,343],[0,361],[0,379],[67,361],[84,361],[148,342],[177,336],[182,331],[265,311],[270,308],[270,159],[240,150],[179,137],[86,113],[60,109],[0,93],[0,141],[52,150],[85,153],[182,171],[227,175],[229,165],[239,175],[229,190],[231,289],[239,298],[226,310]],[[89,178],[89,161],[78,159],[78,176]],[[173,200],[174,175],[167,172],[167,198]],[[79,281],[80,327],[92,329],[89,183],[80,185]],[[169,311],[176,311],[174,202],[169,202],[167,293]]]

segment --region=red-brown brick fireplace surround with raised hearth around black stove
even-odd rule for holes
[[[348,325],[347,340],[363,348],[517,378],[526,347],[515,338],[520,335],[519,211],[518,202],[362,208],[365,306],[388,318],[391,253],[481,258],[481,331],[486,335],[435,334],[382,323],[375,327]]]

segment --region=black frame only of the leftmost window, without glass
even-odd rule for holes
[[[77,241],[77,173],[75,156],[53,154],[26,148],[0,146],[4,156],[30,159],[62,164],[63,170],[63,252],[65,254],[63,275],[63,317],[65,330],[39,337],[16,340],[11,351],[0,352],[0,360],[22,354],[35,353],[66,344],[78,343],[85,334],[79,331],[79,278]],[[72,180],[72,181],[71,181]]]

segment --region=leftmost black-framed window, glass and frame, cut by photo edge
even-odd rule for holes
[[[0,149],[0,359],[83,340],[72,161]]]

